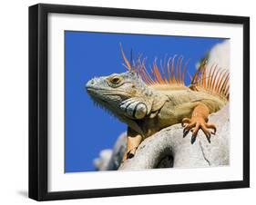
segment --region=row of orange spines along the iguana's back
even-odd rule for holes
[[[132,60],[128,62],[122,47],[121,52],[125,63],[124,66],[128,68],[129,71],[138,73],[146,84],[176,84],[184,86],[185,75],[188,73],[187,66],[189,60],[184,63],[183,66],[184,57],[182,55],[179,56],[175,54],[172,58],[169,58],[168,61],[166,61],[165,57],[164,62],[162,63],[162,61],[160,61],[159,65],[156,58],[152,63],[152,66],[149,66],[148,70],[146,67],[146,58],[141,61],[141,54],[138,55],[136,62]],[[148,71],[150,71],[150,73],[148,73]],[[212,64],[209,69],[207,67],[207,63],[201,63],[199,69],[193,76],[189,73],[188,75],[191,84],[200,87],[200,90],[204,90],[209,93],[216,93],[229,100],[230,73],[218,67],[217,64]]]

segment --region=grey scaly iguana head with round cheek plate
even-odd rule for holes
[[[87,93],[121,121],[143,119],[151,111],[152,91],[138,73],[113,73],[87,82]]]

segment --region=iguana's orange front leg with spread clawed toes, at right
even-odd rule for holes
[[[208,142],[210,142],[210,134],[215,134],[217,129],[213,123],[208,123],[208,116],[208,107],[204,103],[197,105],[192,112],[191,119],[184,118],[182,120],[181,124],[183,127],[185,127],[183,130],[183,137],[186,137],[189,131],[191,131],[191,143],[194,143],[196,141],[198,132],[201,129],[206,135]],[[210,129],[212,129],[213,132],[210,131]]]

